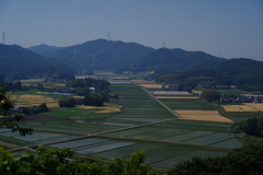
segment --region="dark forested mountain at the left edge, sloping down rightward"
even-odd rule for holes
[[[73,72],[62,65],[56,66],[47,58],[18,45],[0,45],[0,74],[8,79],[24,79],[54,72]]]

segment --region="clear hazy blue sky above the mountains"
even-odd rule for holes
[[[263,61],[263,0],[0,0],[0,43],[99,38]]]

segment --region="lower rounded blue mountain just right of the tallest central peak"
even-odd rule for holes
[[[132,66],[134,70],[178,71],[224,62],[226,59],[202,51],[160,48]]]

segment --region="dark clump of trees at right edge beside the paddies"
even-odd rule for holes
[[[263,117],[253,117],[240,122],[235,122],[231,125],[230,130],[233,133],[243,132],[250,136],[263,137]]]

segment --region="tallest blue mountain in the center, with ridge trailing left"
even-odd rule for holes
[[[28,48],[38,54],[52,57],[54,61],[62,61],[75,70],[115,70],[127,68],[141,57],[155,51],[136,43],[96,39],[83,44],[52,48],[35,46]],[[41,50],[41,51],[39,51]]]

